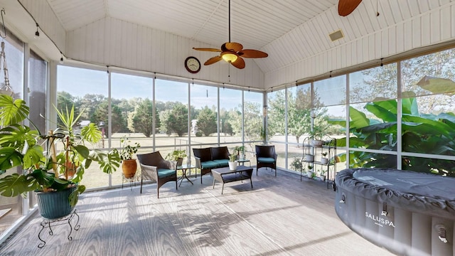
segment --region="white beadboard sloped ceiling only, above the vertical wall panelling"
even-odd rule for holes
[[[112,17],[219,47],[228,41],[228,0],[47,0],[66,31]],[[231,38],[269,53],[263,73],[319,55],[453,0],[363,0],[338,16],[338,0],[231,0]],[[380,16],[377,16],[377,12]],[[331,41],[341,29],[344,38]]]

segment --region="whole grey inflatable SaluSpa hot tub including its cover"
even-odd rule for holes
[[[397,255],[455,256],[455,178],[346,169],[335,185],[338,217],[363,238]]]

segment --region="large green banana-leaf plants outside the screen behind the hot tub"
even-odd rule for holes
[[[365,113],[350,107],[351,148],[397,151],[397,100],[368,102],[365,109],[377,119],[368,118]],[[346,127],[346,120],[331,119],[331,124]],[[454,113],[421,114],[415,97],[402,99],[402,151],[412,153],[455,155]],[[337,139],[337,146],[346,146],[346,137]],[[381,167],[395,168],[397,156],[372,152],[351,151],[350,168]],[[346,161],[346,153],[339,155]],[[404,156],[402,169],[455,176],[455,163],[445,159],[429,159]]]

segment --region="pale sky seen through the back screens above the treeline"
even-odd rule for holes
[[[108,95],[109,75],[107,71],[88,70],[58,65],[58,91],[69,92],[73,96],[88,94]],[[142,97],[152,99],[153,79],[137,75],[111,72],[112,98],[131,99]],[[196,109],[217,106],[217,87],[190,85],[191,105]],[[188,83],[156,79],[156,100],[166,102],[188,102]],[[245,91],[245,101],[262,103],[262,93]],[[220,88],[220,107],[227,110],[239,107],[242,91]]]

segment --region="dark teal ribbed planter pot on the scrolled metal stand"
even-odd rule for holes
[[[35,191],[38,201],[38,210],[41,216],[48,219],[61,218],[71,213],[74,209],[70,206],[68,197],[75,191],[77,186],[68,188],[64,191],[43,192]]]

